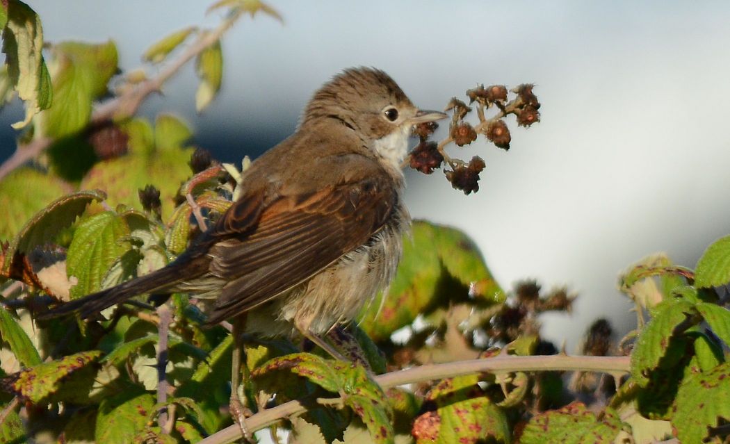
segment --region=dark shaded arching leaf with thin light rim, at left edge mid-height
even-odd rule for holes
[[[28,196],[27,192],[20,195]],[[89,203],[104,198],[106,195],[99,190],[74,192],[54,200],[38,211],[23,225],[10,244],[3,262],[3,273],[9,272],[16,254],[28,254],[36,246],[50,243],[61,230],[69,227],[84,212]]]

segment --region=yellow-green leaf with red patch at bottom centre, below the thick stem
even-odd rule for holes
[[[437,410],[413,422],[416,443],[510,443],[510,425],[504,411],[477,385],[477,375],[448,378],[426,394]]]

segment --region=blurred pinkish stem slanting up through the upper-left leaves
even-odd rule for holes
[[[231,28],[231,26],[236,23],[243,13],[243,9],[234,9],[234,11],[232,11],[228,17],[226,17],[226,19],[218,25],[218,28],[215,28],[210,32],[199,34],[196,42],[191,44],[191,46],[188,47],[188,49],[185,50],[179,58],[177,58],[177,60],[170,63],[169,66],[166,66],[165,69],[160,71],[160,74],[156,77],[140,82],[137,86],[130,88],[121,96],[112,98],[110,101],[99,105],[94,110],[93,114],[91,114],[87,128],[101,122],[106,122],[112,118],[123,118],[133,115],[137,112],[137,109],[139,109],[139,106],[143,101],[145,101],[147,96],[161,90],[164,82],[174,76],[174,74],[177,74],[177,71],[180,71],[180,68],[182,68],[185,63],[193,60],[193,58],[203,52],[203,50],[207,47],[218,42],[220,37],[228,31],[228,28]],[[54,139],[50,137],[40,137],[38,139],[34,139],[28,144],[18,145],[15,152],[13,152],[12,155],[8,157],[2,165],[0,165],[0,179],[7,176],[10,172],[15,170],[15,168],[18,168],[28,162],[28,160],[40,155],[45,151],[45,149],[53,144],[53,141]]]

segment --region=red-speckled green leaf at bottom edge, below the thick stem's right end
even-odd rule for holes
[[[571,402],[558,410],[533,416],[523,429],[519,443],[613,443],[623,427],[621,418],[611,408],[599,417],[586,409],[583,402]]]

